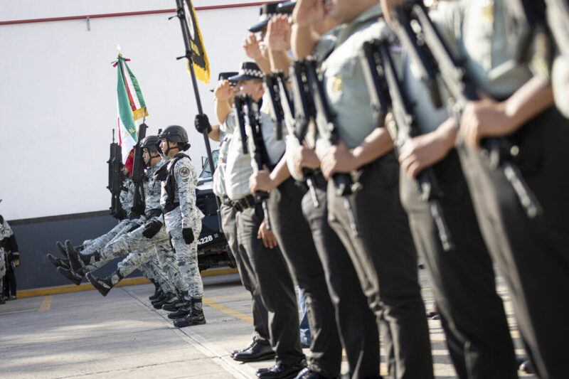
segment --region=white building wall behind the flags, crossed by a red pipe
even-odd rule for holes
[[[245,1],[196,0],[194,6]],[[158,0],[0,0],[0,21],[173,9]],[[105,210],[108,145],[116,129],[117,43],[137,76],[150,116],[149,133],[186,127],[194,164],[206,155],[193,128],[197,113],[186,72],[184,41],[174,14],[0,25],[0,213],[8,220]],[[199,82],[212,122],[220,71],[245,60],[246,28],[258,7],[198,11],[211,64],[210,85]],[[215,148],[216,143],[212,144]]]

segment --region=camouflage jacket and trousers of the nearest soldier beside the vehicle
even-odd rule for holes
[[[168,213],[164,213],[166,231],[171,238],[172,246],[178,257],[178,266],[188,283],[191,297],[203,297],[203,283],[198,269],[198,237],[201,233],[201,220],[204,217],[196,206],[196,185],[198,177],[190,159],[178,153],[167,163],[168,171],[173,168],[176,188],[174,189],[174,204],[179,204]],[[166,181],[162,181],[160,203],[164,208],[168,200]],[[187,245],[182,230],[193,230],[193,242]]]

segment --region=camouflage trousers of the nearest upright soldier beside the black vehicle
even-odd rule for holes
[[[178,267],[188,284],[190,296],[203,297],[203,282],[198,267],[198,238],[201,233],[201,219],[196,218],[189,225],[193,230],[193,242],[189,245],[186,244],[182,236],[180,207],[166,213],[164,223],[169,232],[172,247],[176,252]]]

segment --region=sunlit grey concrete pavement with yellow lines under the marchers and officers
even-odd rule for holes
[[[420,276],[428,309],[424,270]],[[243,364],[229,356],[250,341],[250,296],[237,274],[204,284],[208,324],[184,329],[151,307],[151,284],[115,288],[107,297],[87,291],[7,301],[0,305],[0,378],[255,378],[272,361]],[[500,279],[497,285],[522,355],[506,289]],[[436,378],[454,378],[440,321],[429,323]]]

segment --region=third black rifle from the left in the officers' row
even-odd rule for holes
[[[318,129],[327,131],[330,136],[330,143],[332,145],[337,145],[340,142],[340,137],[338,129],[336,129],[336,124],[334,124],[335,114],[331,111],[326,100],[324,85],[322,84],[322,80],[319,78],[317,72],[317,62],[312,58],[307,58],[299,64],[304,65],[305,67],[310,95],[312,95],[314,108],[316,109],[316,117],[314,120],[318,125]],[[294,108],[298,109],[298,106],[295,106]],[[356,217],[353,215],[353,208],[349,201],[349,196],[352,193],[351,186],[353,184],[351,175],[336,173],[332,176],[332,181],[334,181],[334,186],[336,187],[336,195],[344,198],[344,207],[346,207],[346,212],[348,213],[351,232],[354,236],[358,236],[359,230],[356,223]]]

